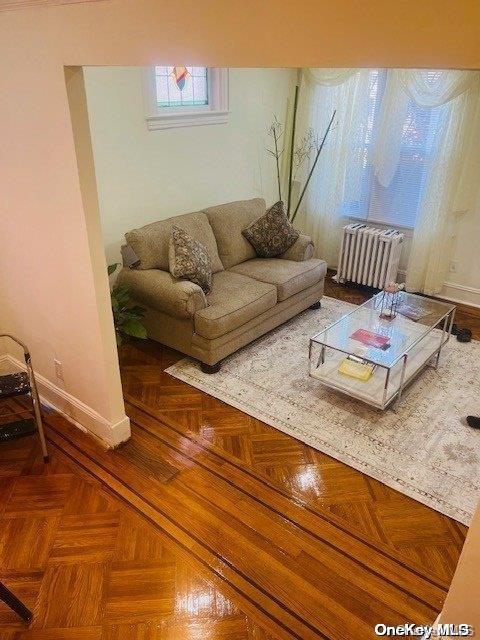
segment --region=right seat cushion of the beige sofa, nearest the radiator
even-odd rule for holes
[[[327,272],[327,264],[318,258],[303,262],[281,258],[254,258],[229,271],[275,285],[277,299],[281,301],[320,282]]]

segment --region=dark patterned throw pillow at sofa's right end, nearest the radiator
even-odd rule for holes
[[[260,258],[276,258],[290,249],[300,233],[291,225],[283,202],[276,202],[242,234]]]

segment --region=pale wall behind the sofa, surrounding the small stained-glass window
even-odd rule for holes
[[[227,124],[148,131],[140,67],[85,69],[108,262],[134,227],[231,200],[277,196],[266,152],[273,114],[285,121],[293,69],[230,69]]]

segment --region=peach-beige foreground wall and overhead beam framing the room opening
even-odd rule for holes
[[[58,354],[71,393],[117,419],[111,326],[97,304],[107,280],[92,269],[64,65],[480,68],[479,42],[477,0],[105,0],[0,13],[0,295],[38,369],[54,381]],[[466,552],[479,544],[472,528]],[[449,596],[458,615],[480,588],[478,565],[462,567]]]

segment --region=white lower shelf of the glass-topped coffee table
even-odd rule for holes
[[[415,350],[408,354],[405,369],[404,387],[429,363],[432,357],[438,354],[441,348],[441,337],[437,332],[425,337]],[[325,362],[318,367],[310,363],[310,375],[322,384],[349,396],[361,400],[378,409],[386,409],[398,396],[401,384],[403,358],[390,369],[387,390],[385,383],[388,369],[377,366],[372,377],[363,382],[345,374],[339,373],[338,366],[346,358],[346,354],[326,347]]]

